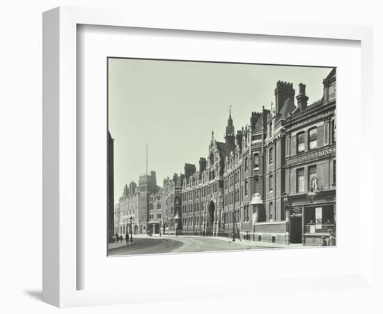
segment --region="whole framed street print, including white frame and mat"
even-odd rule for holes
[[[368,154],[347,174],[370,28],[56,8],[43,32],[44,301],[373,289]]]

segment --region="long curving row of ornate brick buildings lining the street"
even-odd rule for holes
[[[164,179],[162,188],[155,172],[142,175],[136,232],[330,244],[336,237],[336,70],[311,105],[304,84],[295,96],[291,83],[277,82],[274,97],[269,110],[251,112],[237,132],[229,112],[224,142],[212,132],[198,169],[185,163],[184,173]]]

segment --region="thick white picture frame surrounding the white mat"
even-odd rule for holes
[[[221,283],[189,287],[164,288],[162,293],[119,289],[77,290],[79,269],[77,264],[77,25],[114,27],[139,27],[143,29],[169,29],[178,31],[208,31],[210,33],[257,34],[263,36],[288,36],[290,38],[324,38],[357,40],[361,43],[361,103],[373,103],[373,30],[370,27],[329,24],[256,22],[243,20],[227,24],[219,20],[189,20],[175,16],[143,19],[134,12],[61,7],[43,15],[43,301],[59,307],[92,306],[133,303],[139,301],[171,301],[198,297],[217,297],[233,292]],[[373,164],[370,142],[372,127],[368,124],[368,112],[361,114],[360,145],[366,154],[361,156],[363,181],[373,182]],[[364,139],[363,142],[361,139]],[[370,188],[370,186],[369,186]],[[367,186],[360,186],[356,195],[368,193]],[[106,209],[105,209],[106,210]],[[360,210],[360,205],[359,205]],[[364,200],[364,216],[360,230],[370,230],[370,217],[374,216],[373,200]],[[75,232],[77,230],[77,232]],[[315,288],[308,291],[325,291],[329,282],[336,289],[345,289],[352,282],[360,289],[375,289],[374,244],[368,239],[370,232],[361,232],[361,264],[347,276],[330,275],[315,277]],[[367,241],[364,241],[367,240]],[[190,255],[192,256],[192,255]],[[175,255],[169,258],[178,258]],[[179,257],[181,258],[181,257]],[[192,258],[192,257],[190,257]],[[214,256],[211,257],[214,259]],[[184,258],[185,260],[185,258]],[[283,286],[289,278],[276,277]],[[293,287],[310,283],[313,278],[297,278]],[[273,279],[275,280],[275,278]],[[273,283],[254,281],[252,278],[236,278],[237,294],[249,290],[262,291]],[[283,292],[283,289],[279,293]],[[185,296],[185,291],[188,294]]]

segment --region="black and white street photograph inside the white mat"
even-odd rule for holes
[[[107,62],[109,256],[336,246],[336,68]]]

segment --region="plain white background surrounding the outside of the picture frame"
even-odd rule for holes
[[[0,309],[2,313],[55,313],[57,308],[41,302],[42,276],[42,11],[55,6],[125,7],[143,16],[177,14],[191,19],[224,19],[235,23],[242,17],[279,21],[363,24],[375,27],[375,108],[371,123],[382,117],[383,22],[378,1],[3,1],[0,6]],[[350,91],[352,92],[352,91]],[[380,106],[380,107],[378,107]],[[380,128],[375,128],[377,144],[382,144]],[[382,152],[377,147],[376,152]],[[380,156],[377,154],[376,156]],[[363,167],[353,171],[363,171]],[[380,172],[380,173],[378,173]],[[375,192],[382,168],[376,167]],[[368,197],[372,197],[371,195]],[[382,215],[380,214],[380,217]],[[376,219],[375,219],[376,220]],[[373,235],[371,235],[373,236]],[[377,241],[377,244],[380,244]],[[380,260],[382,265],[382,260]],[[380,270],[379,270],[380,271]],[[380,275],[382,272],[380,271]],[[380,276],[382,282],[382,276]],[[159,287],[157,287],[159,289]],[[233,287],[235,289],[235,287]],[[288,289],[288,287],[286,287]],[[207,299],[194,302],[136,304],[97,308],[71,308],[67,313],[282,313],[299,299],[312,298],[310,308],[297,313],[381,313],[378,295],[359,297],[358,290],[333,294],[297,295],[279,301],[253,299]],[[334,297],[336,296],[336,297]],[[338,302],[334,302],[338,299]],[[269,301],[269,306],[267,302]],[[375,308],[373,308],[375,304]]]

